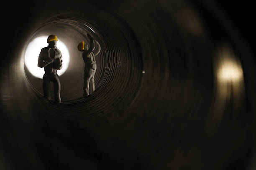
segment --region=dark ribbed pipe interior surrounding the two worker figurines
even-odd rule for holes
[[[218,1],[6,7],[13,8],[2,15],[8,26],[0,64],[0,169],[256,168],[255,56],[248,34]],[[95,91],[84,98],[77,44],[90,42],[87,33],[101,52]],[[50,34],[69,50],[59,76],[62,103],[44,98],[43,80],[24,62],[29,42]]]

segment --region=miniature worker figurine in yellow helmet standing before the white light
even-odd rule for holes
[[[57,75],[57,70],[62,68],[61,51],[57,48],[58,38],[56,35],[49,35],[47,38],[47,47],[41,49],[38,57],[38,67],[44,67],[44,77],[43,77],[43,89],[44,97],[51,100],[51,89],[50,82],[54,84],[54,98],[55,102],[61,103],[60,98],[60,81],[59,75]]]

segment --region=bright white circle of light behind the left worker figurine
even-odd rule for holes
[[[33,39],[29,44],[25,52],[25,65],[28,68],[28,71],[35,77],[43,78],[44,68],[37,67],[38,64],[38,55],[41,52],[41,49],[47,47],[47,36],[41,36]],[[66,45],[57,41],[57,48],[61,51],[62,57],[62,69],[58,70],[58,75],[62,75],[69,66],[69,50]]]

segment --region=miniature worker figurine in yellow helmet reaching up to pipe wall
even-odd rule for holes
[[[97,42],[94,37],[92,37],[90,34],[87,34],[87,37],[90,38],[90,47],[88,48],[88,45],[84,44],[83,42],[80,42],[77,46],[77,49],[81,52],[83,52],[82,57],[84,60],[84,97],[89,95],[89,84],[92,87],[92,91],[95,90],[94,85],[94,75],[96,72],[96,61],[95,56],[100,53],[100,44]],[[93,51],[95,49],[95,46],[97,45],[97,51]]]

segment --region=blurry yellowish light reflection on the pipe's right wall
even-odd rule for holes
[[[213,55],[215,69],[215,118],[221,119],[225,107],[239,110],[244,96],[243,69],[230,45],[218,47]],[[233,115],[236,116],[236,115]]]

